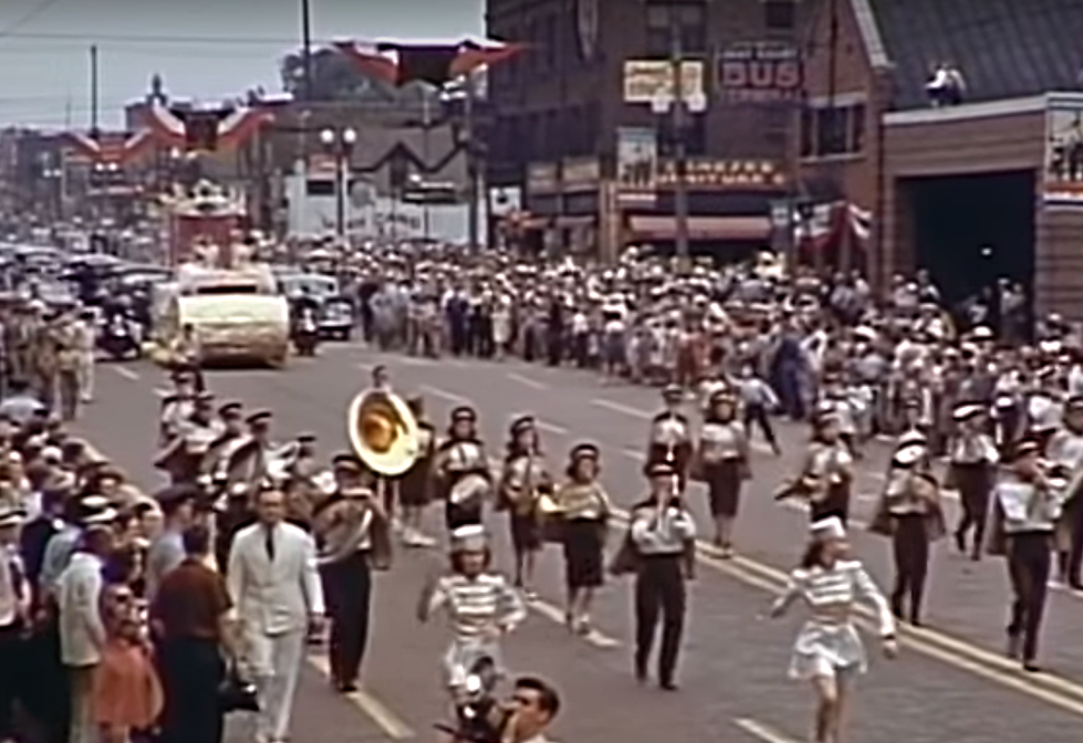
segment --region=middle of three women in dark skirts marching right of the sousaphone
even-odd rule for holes
[[[523,416],[513,421],[509,437],[497,502],[508,511],[516,553],[516,587],[524,590],[528,600],[533,600],[537,597],[532,588],[534,557],[542,548],[538,500],[542,493],[553,492],[553,478],[541,453],[533,417]]]

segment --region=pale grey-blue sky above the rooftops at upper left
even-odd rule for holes
[[[483,0],[311,0],[316,43],[460,39],[483,32]],[[215,103],[281,90],[300,48],[301,0],[0,0],[0,126],[90,125],[98,48],[102,126],[162,74],[175,97]]]

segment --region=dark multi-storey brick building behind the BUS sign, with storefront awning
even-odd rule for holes
[[[671,241],[671,121],[647,101],[626,100],[625,63],[655,61],[671,81],[665,61],[679,35],[681,57],[701,65],[707,104],[702,113],[689,112],[683,134],[694,248],[736,254],[762,247],[771,239],[771,202],[790,190],[789,128],[800,74],[793,74],[793,59],[784,60],[789,79],[767,81],[763,94],[749,102],[752,96],[727,87],[723,62],[754,49],[780,59],[795,53],[791,44],[806,4],[488,0],[488,35],[525,45],[490,71],[489,184],[522,189],[530,226],[558,244],[596,241],[613,250],[634,241]],[[619,198],[619,137],[632,128],[656,137],[649,203]]]

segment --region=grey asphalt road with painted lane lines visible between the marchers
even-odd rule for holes
[[[250,408],[275,412],[282,439],[311,431],[332,453],[345,446],[345,410],[368,380],[375,364],[386,364],[404,393],[425,395],[429,414],[444,428],[448,410],[472,404],[481,415],[490,457],[502,454],[507,427],[520,412],[540,421],[543,443],[555,470],[581,440],[603,451],[603,479],[621,505],[643,494],[639,474],[647,421],[658,406],[657,391],[603,385],[587,373],[519,363],[429,362],[383,356],[357,345],[327,345],[315,359],[294,359],[280,372],[223,370],[209,374],[211,388]],[[102,365],[98,401],[84,412],[80,429],[145,488],[160,478],[149,465],[155,454],[156,389],[164,374],[149,364]],[[554,548],[543,556],[539,589],[543,600],[531,619],[507,642],[509,663],[539,673],[560,687],[565,709],[554,726],[561,741],[647,741],[666,736],[677,743],[722,740],[791,743],[806,740],[809,692],[785,678],[801,613],[777,622],[759,619],[798,558],[804,543],[803,513],[773,503],[772,489],[793,472],[806,431],[782,426],[784,453],[759,447],[752,464],[736,535],[739,555],[722,562],[705,546],[694,584],[685,652],[676,694],[641,688],[631,674],[631,596],[625,582],[611,582],[600,596],[597,632],[571,637],[562,626],[561,559]],[[886,451],[873,446],[862,462],[856,520],[867,519],[882,483]],[[691,500],[704,536],[706,495]],[[954,511],[954,505],[950,509]],[[954,514],[950,514],[954,519]],[[430,514],[433,532],[440,514]],[[507,529],[494,516],[498,561],[508,565]],[[614,535],[611,543],[617,543]],[[891,577],[888,546],[856,529],[853,543],[882,586]],[[439,626],[418,626],[413,617],[426,575],[438,569],[438,551],[396,554],[393,569],[377,582],[372,645],[365,661],[364,692],[335,697],[319,659],[306,669],[298,703],[294,740],[348,743],[376,740],[428,740],[444,713],[438,656],[446,641]],[[852,740],[862,743],[990,743],[1080,740],[1083,718],[1083,642],[1079,627],[1083,601],[1054,593],[1048,611],[1042,660],[1048,672],[1029,676],[1001,658],[1008,601],[1001,561],[981,563],[954,554],[946,542],[936,548],[925,629],[904,630],[903,655],[893,662],[875,656],[860,681]],[[235,725],[238,743],[243,724]],[[232,743],[232,742],[231,742]]]

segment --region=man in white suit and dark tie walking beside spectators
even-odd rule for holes
[[[315,543],[285,523],[285,495],[264,490],[259,521],[233,537],[227,582],[237,609],[244,659],[259,689],[259,743],[289,735],[293,694],[312,625],[323,621]]]

